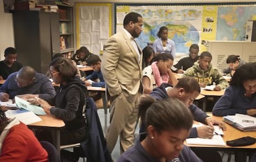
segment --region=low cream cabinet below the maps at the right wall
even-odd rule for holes
[[[221,71],[228,67],[226,60],[229,55],[239,55],[245,62],[256,62],[256,42],[209,41],[208,45],[208,52],[213,56],[211,64]]]

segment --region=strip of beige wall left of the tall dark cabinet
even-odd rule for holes
[[[0,0],[0,60],[4,59],[6,47],[14,47],[14,30],[12,28],[12,14],[4,12],[3,0]]]

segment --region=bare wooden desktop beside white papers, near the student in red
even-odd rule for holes
[[[42,119],[36,123],[28,124],[28,126],[35,127],[48,127],[48,128],[62,128],[65,126],[65,123],[62,119],[57,119],[51,115],[39,115]]]

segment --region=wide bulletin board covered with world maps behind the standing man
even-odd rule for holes
[[[208,41],[244,41],[247,20],[256,20],[256,3],[226,4],[115,4],[115,31],[122,28],[128,12],[143,17],[137,43],[143,49],[157,39],[161,26],[176,44],[176,55],[187,54],[191,44],[207,51]]]

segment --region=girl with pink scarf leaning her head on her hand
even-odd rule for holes
[[[154,87],[158,87],[162,83],[175,86],[177,79],[171,71],[171,67],[173,67],[173,55],[168,53],[156,55],[151,65],[142,71],[143,93],[149,94]]]

